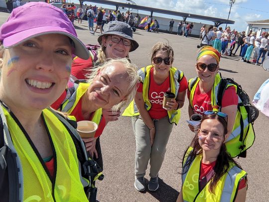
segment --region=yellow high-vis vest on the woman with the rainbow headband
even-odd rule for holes
[[[195,82],[195,80],[196,80],[196,82]],[[199,77],[189,79],[189,81],[188,81],[188,88],[190,90],[190,101],[189,102],[190,102],[192,108],[193,108],[193,98],[194,98],[194,94],[195,94],[195,89],[196,89],[199,81],[200,81]],[[220,108],[218,109],[218,107],[217,107],[217,94],[218,94],[220,81],[221,81],[220,74],[216,74],[215,82],[213,85],[213,90],[211,90],[211,104],[212,104],[212,109],[214,111],[220,110]],[[193,84],[193,82],[195,82],[195,83]],[[192,89],[191,89],[191,85],[193,85]],[[237,86],[234,84],[230,84],[230,83],[227,85],[226,89],[230,86],[234,86],[236,91],[237,91]],[[239,96],[238,96],[238,102],[239,103],[242,102],[241,99],[239,98]],[[232,133],[229,136],[229,138],[226,140],[226,143],[225,143],[225,145],[227,147],[227,152],[229,152],[233,158],[238,156],[242,152],[241,147],[243,145],[245,145],[245,149],[250,148],[253,145],[253,142],[255,139],[253,126],[252,126],[252,124],[250,124],[248,122],[248,113],[247,113],[245,107],[240,107],[240,110],[241,110],[241,113],[239,112],[239,110],[237,110],[236,119],[235,119]],[[240,124],[241,115],[242,115],[243,123],[244,123],[244,136],[249,131],[249,134],[247,135],[247,138],[244,141],[244,143],[239,140],[240,134],[241,134],[241,124]],[[228,117],[228,119],[229,119],[229,117]]]

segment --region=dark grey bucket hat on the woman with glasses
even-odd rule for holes
[[[133,30],[131,26],[125,22],[121,22],[117,20],[110,21],[107,24],[107,27],[105,28],[104,33],[98,37],[97,39],[98,42],[102,44],[102,36],[111,35],[111,34],[130,39],[133,42],[130,52],[134,51],[139,46],[138,43],[133,38]]]

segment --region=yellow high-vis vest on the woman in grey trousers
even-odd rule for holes
[[[149,90],[149,81],[150,81],[150,69],[152,65],[147,67],[143,67],[138,70],[138,75],[141,78],[141,82],[143,83],[143,91],[142,95],[145,102],[145,109],[148,111],[151,108],[151,103],[148,99],[148,90]],[[170,77],[170,87],[171,92],[175,94],[177,97],[178,89],[179,89],[179,82],[178,75],[180,75],[180,79],[184,76],[183,72],[176,69],[175,67],[171,67],[169,70],[169,77]],[[180,109],[178,110],[169,110],[167,111],[169,122],[177,124],[180,119]],[[123,113],[123,116],[137,116],[139,115],[138,108],[135,105],[134,100],[130,103],[130,105],[126,108]]]

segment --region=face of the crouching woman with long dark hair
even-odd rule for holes
[[[201,123],[198,137],[204,151],[219,153],[225,140],[224,127],[217,119],[205,119]]]

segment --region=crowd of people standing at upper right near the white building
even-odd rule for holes
[[[240,48],[240,60],[247,63],[254,63],[255,65],[259,64],[262,66],[266,54],[269,55],[269,52],[267,53],[269,46],[268,32],[262,32],[257,37],[257,33],[252,30],[246,35],[245,31],[238,32],[235,29],[231,31],[230,26],[223,30],[222,27],[217,28],[213,25],[203,25],[201,27],[200,39],[202,40],[201,46],[211,45],[221,55],[236,55]],[[253,59],[250,61],[251,57]],[[260,60],[260,58],[262,59]]]

